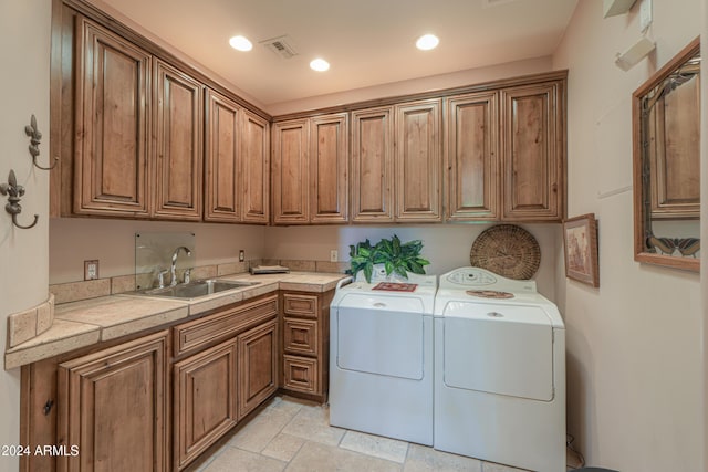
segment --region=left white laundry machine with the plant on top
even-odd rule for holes
[[[436,275],[337,286],[330,307],[330,424],[433,445]],[[413,289],[388,285],[389,289]]]

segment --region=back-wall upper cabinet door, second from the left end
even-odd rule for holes
[[[310,221],[347,221],[348,115],[319,116],[311,120]]]

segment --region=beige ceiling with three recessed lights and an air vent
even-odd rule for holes
[[[103,0],[268,106],[548,56],[577,0]],[[418,51],[416,39],[440,44]],[[242,34],[253,50],[239,52]],[[282,59],[261,41],[288,36]],[[310,61],[324,57],[327,72]]]

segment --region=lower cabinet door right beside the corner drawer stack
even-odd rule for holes
[[[278,389],[278,319],[238,336],[239,419]]]

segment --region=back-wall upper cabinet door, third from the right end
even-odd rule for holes
[[[396,105],[396,221],[442,219],[440,99]]]

